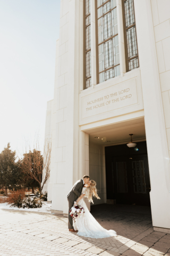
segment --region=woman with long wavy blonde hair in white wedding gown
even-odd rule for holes
[[[84,197],[87,197],[88,201],[92,203],[94,203],[92,196],[100,199],[100,197],[97,195],[96,181],[90,180],[87,185],[82,188],[81,194],[83,194]],[[97,220],[89,212],[82,196],[80,196],[75,203],[84,208],[84,213],[79,214],[78,217],[73,221],[74,230],[78,230],[77,234],[79,236],[91,238],[116,236],[116,232],[114,230],[107,230],[100,226]]]

